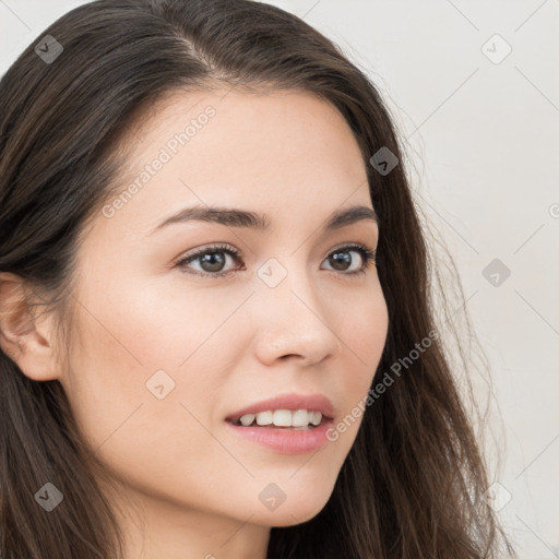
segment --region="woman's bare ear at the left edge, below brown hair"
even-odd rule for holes
[[[0,273],[0,347],[36,381],[58,379],[52,321],[37,317],[25,280]],[[37,298],[38,301],[38,298]]]

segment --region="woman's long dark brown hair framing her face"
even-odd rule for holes
[[[63,49],[46,39],[56,59],[35,50],[47,35]],[[48,27],[0,82],[0,272],[24,277],[70,335],[80,233],[112,194],[123,159],[114,147],[162,96],[211,86],[313,92],[346,119],[379,216],[389,309],[371,389],[406,365],[367,404],[326,506],[306,523],[273,527],[267,557],[497,557],[506,537],[484,498],[486,465],[454,371],[432,336],[433,263],[396,127],[367,75],[295,15],[249,0],[99,0]],[[380,148],[400,162],[388,174],[370,163]],[[61,384],[31,380],[0,352],[0,418],[2,557],[122,557],[94,480],[100,465]],[[64,496],[49,514],[34,497],[47,481]]]

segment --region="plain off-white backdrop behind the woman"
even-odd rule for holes
[[[82,3],[0,0],[0,73]],[[270,3],[382,92],[491,362],[495,507],[520,558],[559,557],[559,1]]]

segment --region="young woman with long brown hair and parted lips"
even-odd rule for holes
[[[497,557],[379,93],[247,0],[100,0],[0,83],[2,557]]]

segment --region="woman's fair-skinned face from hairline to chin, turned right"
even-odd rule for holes
[[[372,251],[379,230],[371,218],[325,228],[334,213],[372,210],[358,144],[332,106],[294,91],[224,94],[177,94],[134,132],[122,195],[80,246],[75,340],[60,380],[138,502],[162,515],[293,525],[326,503],[362,417],[316,447],[311,431],[285,427],[265,445],[226,418],[319,394],[335,426],[367,395],[386,306],[373,263],[342,248]],[[265,214],[267,227],[162,225],[193,206]]]

